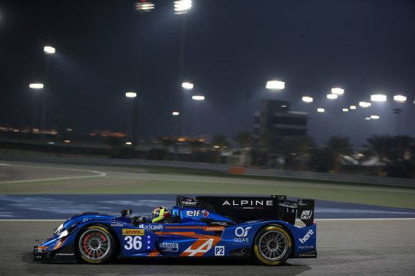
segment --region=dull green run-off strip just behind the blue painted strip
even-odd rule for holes
[[[116,181],[116,179],[114,179]],[[400,208],[415,208],[415,193],[398,191],[358,190],[350,188],[315,188],[277,186],[270,184],[230,184],[208,181],[145,181],[101,188],[85,188],[28,191],[30,194],[241,194],[241,195],[288,195],[298,198],[324,199],[357,204],[371,204]]]

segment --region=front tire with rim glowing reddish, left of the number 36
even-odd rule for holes
[[[90,225],[75,240],[77,257],[87,264],[107,264],[116,251],[116,241],[107,227]]]

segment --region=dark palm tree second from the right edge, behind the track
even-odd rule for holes
[[[385,165],[388,155],[391,153],[393,138],[389,135],[371,135],[366,139],[367,144],[362,147],[366,148],[365,156],[376,157],[379,162],[378,175],[382,175],[382,166]]]

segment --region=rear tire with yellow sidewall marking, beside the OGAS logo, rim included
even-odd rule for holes
[[[282,226],[270,224],[261,228],[252,244],[252,256],[260,264],[284,264],[291,253],[291,237]]]

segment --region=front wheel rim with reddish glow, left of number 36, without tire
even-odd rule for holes
[[[109,254],[111,240],[103,230],[86,230],[80,237],[79,248],[82,256],[91,261],[101,261]]]

